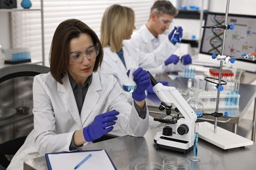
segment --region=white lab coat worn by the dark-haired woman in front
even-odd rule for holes
[[[93,73],[81,117],[68,74],[62,80],[63,84],[56,82],[51,73],[35,76],[34,129],[12,159],[8,169],[23,169],[23,161],[43,156],[48,152],[70,151],[74,131],[89,126],[96,115],[110,110],[116,109],[120,112],[116,124],[128,135],[141,137],[146,133],[148,109],[146,118],[141,119],[134,105],[127,102],[114,76]]]

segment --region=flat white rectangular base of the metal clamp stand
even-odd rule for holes
[[[209,122],[200,122],[198,124],[199,137],[209,143],[223,148],[224,150],[253,144],[253,141],[218,126],[217,133],[214,133],[214,125]]]

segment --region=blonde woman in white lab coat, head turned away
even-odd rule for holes
[[[114,75],[122,86],[127,79],[126,72],[130,68],[142,67],[152,69],[160,66],[177,49],[166,37],[163,43],[152,53],[144,53],[127,43],[135,28],[133,9],[121,5],[112,5],[105,10],[101,27],[100,41],[104,50],[104,58],[100,70]],[[173,34],[174,30],[170,33]],[[170,35],[171,36],[171,35]],[[131,95],[126,92],[131,102]]]

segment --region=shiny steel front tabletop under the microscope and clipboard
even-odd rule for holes
[[[161,128],[150,129],[144,137],[117,137],[100,143],[89,144],[83,149],[105,149],[117,169],[135,169],[135,165],[144,161],[162,164],[164,158],[181,157],[190,158],[193,152],[187,154],[172,150],[158,149],[154,144],[154,135]],[[190,170],[215,170],[215,169],[255,169],[256,144],[243,148],[233,148],[223,151],[217,146],[199,140],[198,156],[201,161],[192,162]],[[47,169],[45,157],[34,158],[24,162],[24,170]]]

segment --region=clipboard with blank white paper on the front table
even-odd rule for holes
[[[49,170],[74,169],[83,158],[92,154],[78,169],[114,169],[117,170],[106,150],[77,150],[74,152],[53,152],[45,154]],[[77,170],[78,170],[77,169]]]

